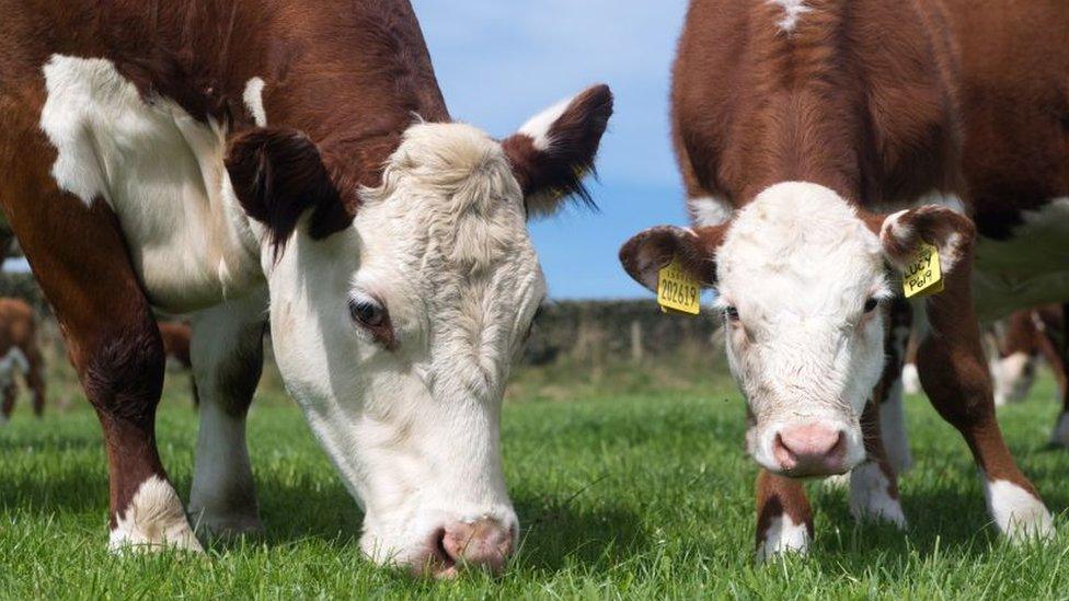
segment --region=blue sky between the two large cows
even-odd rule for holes
[[[668,137],[669,69],[685,0],[414,0],[453,118],[494,136],[591,83],[616,114],[601,141],[600,212],[532,226],[555,299],[648,296],[617,251],[651,226],[686,223]]]

